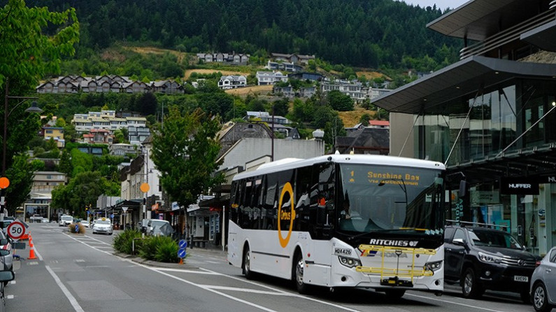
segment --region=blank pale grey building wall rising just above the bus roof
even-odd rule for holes
[[[272,140],[267,138],[241,139],[224,154],[220,170],[233,168],[265,155],[271,155]],[[311,158],[325,154],[325,142],[316,140],[274,139],[274,160],[283,158]]]

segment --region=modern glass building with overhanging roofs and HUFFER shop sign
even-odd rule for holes
[[[391,154],[447,165],[446,218],[506,225],[545,254],[556,244],[556,1],[468,1],[427,27],[461,38],[461,59],[374,99],[390,111]]]

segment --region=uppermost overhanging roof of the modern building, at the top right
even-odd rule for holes
[[[482,41],[539,14],[550,0],[471,0],[451,10],[427,28],[456,38]],[[541,9],[541,12],[543,10]]]

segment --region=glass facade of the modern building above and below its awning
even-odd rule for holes
[[[429,106],[414,117],[413,154],[441,161],[448,168],[463,163],[473,168],[473,163],[535,151],[556,142],[555,101],[556,79],[515,77],[476,94]],[[524,168],[522,175],[529,175],[526,165]],[[465,220],[505,225],[534,253],[544,254],[556,243],[553,184],[541,183],[538,195],[507,195],[500,189],[499,177],[490,177],[488,170],[471,174],[485,177],[476,177],[481,181],[470,185]],[[459,190],[451,192],[452,209],[446,217],[459,219],[464,213],[457,202]]]

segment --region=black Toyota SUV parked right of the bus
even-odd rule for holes
[[[502,230],[447,225],[444,231],[445,283],[459,283],[466,298],[489,289],[518,292],[529,303],[529,281],[540,259]]]

